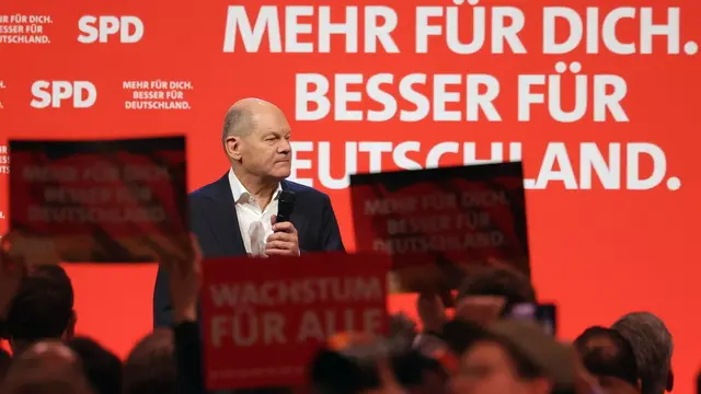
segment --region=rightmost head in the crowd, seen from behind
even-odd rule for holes
[[[633,347],[643,394],[670,392],[674,343],[665,322],[650,312],[633,312],[619,318],[611,328]]]

